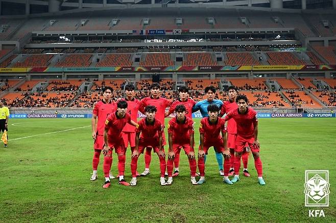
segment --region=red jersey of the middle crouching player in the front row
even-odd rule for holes
[[[168,133],[173,134],[173,141],[189,142],[190,134],[194,133],[194,121],[185,117],[182,123],[172,118],[168,123]]]

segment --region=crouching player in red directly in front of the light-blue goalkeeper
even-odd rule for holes
[[[215,147],[218,153],[222,153],[224,156],[224,178],[223,182],[232,184],[229,180],[230,170],[230,151],[227,147],[227,135],[225,129],[225,120],[218,117],[219,107],[215,104],[208,105],[208,115],[201,120],[200,123],[200,146],[198,150],[198,169],[201,174],[201,178],[198,184],[205,182],[204,171],[204,156],[208,153],[210,147]],[[221,137],[221,132],[222,136]]]

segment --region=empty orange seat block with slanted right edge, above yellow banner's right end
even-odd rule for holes
[[[306,63],[299,60],[291,52],[267,52],[270,65],[305,65]]]

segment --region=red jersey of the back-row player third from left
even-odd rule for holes
[[[147,105],[153,105],[156,107],[157,112],[155,114],[155,118],[158,119],[164,125],[164,113],[165,108],[170,106],[172,102],[166,98],[153,98],[147,97],[141,100],[140,111],[142,114],[145,114],[145,107]]]

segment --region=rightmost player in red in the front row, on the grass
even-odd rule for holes
[[[242,152],[246,144],[249,145],[254,158],[255,169],[258,173],[260,185],[265,185],[262,178],[262,163],[259,154],[260,144],[258,141],[258,118],[257,113],[252,108],[247,107],[248,99],[245,95],[238,95],[236,98],[238,109],[229,111],[225,121],[231,118],[237,123],[237,137],[235,141],[235,160],[234,173],[232,182],[239,180],[239,169],[241,168]]]

